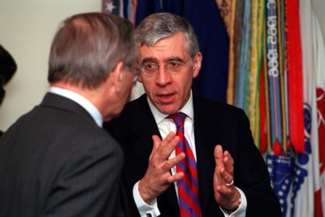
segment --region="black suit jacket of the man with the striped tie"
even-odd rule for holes
[[[280,216],[280,205],[270,186],[266,164],[253,142],[249,120],[236,107],[196,98],[194,134],[197,153],[199,191],[203,216],[223,216],[214,200],[214,147],[221,144],[234,158],[234,183],[247,198],[247,216]],[[132,196],[134,184],[145,174],[152,150],[151,136],[160,135],[150,111],[146,95],[126,105],[121,116],[106,128],[122,145],[124,168],[122,179],[133,216],[139,216]],[[161,216],[179,216],[172,184],[157,198]]]

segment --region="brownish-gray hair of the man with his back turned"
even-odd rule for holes
[[[74,15],[60,25],[48,61],[48,81],[94,89],[122,61],[131,68],[138,57],[131,22],[115,15]]]

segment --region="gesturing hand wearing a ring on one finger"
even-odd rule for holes
[[[240,193],[233,184],[234,160],[228,151],[223,152],[221,145],[214,148],[215,170],[213,178],[214,198],[219,206],[236,209]]]

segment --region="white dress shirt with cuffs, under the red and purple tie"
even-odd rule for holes
[[[155,118],[156,124],[158,126],[160,135],[162,136],[162,139],[164,139],[168,133],[175,132],[176,133],[176,125],[174,121],[171,118],[166,118],[168,115],[162,114],[157,110],[157,108],[150,102],[150,100],[147,98],[150,110]],[[193,109],[193,97],[192,97],[192,91],[190,98],[188,102],[185,104],[185,106],[179,111],[187,115],[184,122],[184,134],[185,137],[189,143],[190,148],[192,149],[195,161],[196,161],[196,149],[195,149],[195,138],[194,138],[194,109]],[[172,152],[172,154],[169,156],[169,158],[175,157],[175,150]],[[176,166],[171,169],[172,175],[176,174]],[[137,182],[133,187],[133,197],[136,202],[136,206],[139,210],[139,213],[142,217],[146,216],[159,216],[160,211],[158,209],[157,205],[157,199],[155,198],[150,205],[148,205],[146,202],[143,201],[143,199],[140,197],[140,193],[138,190],[138,184]],[[178,188],[177,188],[177,182],[174,182],[175,184],[175,190],[176,195],[178,197]],[[245,216],[246,214],[246,207],[247,207],[247,200],[244,195],[244,193],[237,188],[240,192],[241,196],[241,204],[239,208],[232,212],[231,214],[228,214],[225,210],[223,210],[221,207],[221,211],[224,213],[225,217],[231,217],[231,216]]]

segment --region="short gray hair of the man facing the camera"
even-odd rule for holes
[[[186,49],[191,57],[200,52],[199,43],[192,26],[180,16],[172,13],[151,14],[136,27],[135,38],[140,46],[148,47],[162,38],[183,32],[186,38]]]

